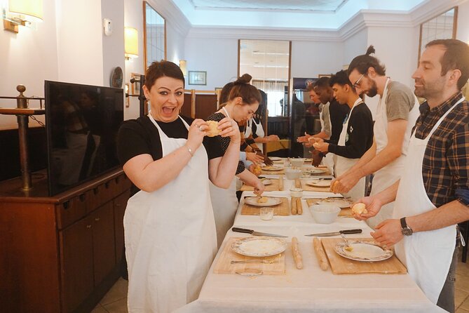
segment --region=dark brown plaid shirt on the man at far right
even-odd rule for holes
[[[420,106],[412,134],[424,139],[438,119],[463,97],[456,93],[442,105]],[[458,200],[469,206],[469,105],[459,103],[435,130],[423,156],[423,185],[436,207]]]

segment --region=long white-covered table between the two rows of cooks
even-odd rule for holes
[[[285,180],[287,182],[287,180]],[[291,182],[285,184],[285,189]],[[252,192],[244,192],[243,197]],[[290,192],[266,192],[290,197]],[[327,197],[329,193],[304,192],[305,197]],[[243,277],[237,274],[214,274],[213,267],[205,279],[198,300],[177,312],[445,312],[433,305],[412,281],[409,274],[342,274],[322,271],[313,251],[312,238],[304,234],[332,232],[339,229],[362,228],[362,234],[353,237],[370,237],[365,222],[353,218],[337,218],[336,222],[322,225],[315,222],[302,200],[303,215],[274,216],[273,220],[260,220],[256,215],[240,215],[243,197],[233,226],[289,236],[299,240],[303,256],[303,269],[294,266],[290,245],[285,251],[285,275]],[[230,237],[247,234],[226,234],[222,247]]]

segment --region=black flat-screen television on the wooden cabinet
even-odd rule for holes
[[[123,89],[45,81],[49,196],[117,168]]]

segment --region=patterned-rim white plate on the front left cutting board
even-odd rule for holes
[[[231,244],[231,250],[247,256],[271,256],[282,253],[287,248],[287,242],[273,237],[245,237]]]

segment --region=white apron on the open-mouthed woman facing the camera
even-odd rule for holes
[[[160,134],[163,156],[186,143],[168,138],[149,118]],[[129,312],[172,312],[196,300],[217,252],[203,145],[174,180],[129,199],[124,230]]]

